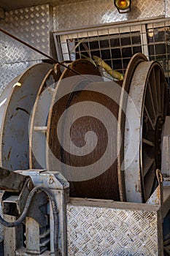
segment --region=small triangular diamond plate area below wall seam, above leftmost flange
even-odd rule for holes
[[[20,75],[28,67],[39,62],[40,61],[26,61],[13,64],[0,64],[0,94],[13,78]]]

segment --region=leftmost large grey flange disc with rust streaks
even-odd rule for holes
[[[0,162],[9,170],[28,169],[28,127],[39,86],[50,64],[36,64],[9,83],[1,94]]]

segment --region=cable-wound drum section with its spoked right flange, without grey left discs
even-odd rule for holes
[[[85,68],[85,62],[82,63],[83,61],[76,61],[73,68],[79,67],[78,71],[81,72],[82,65],[84,74],[93,74],[95,67],[91,66],[89,69],[89,64],[86,63],[87,68]],[[139,66],[142,63],[143,69],[140,69]],[[141,79],[141,84],[138,85],[136,77],[139,75],[140,78],[143,76],[144,80]],[[154,75],[156,78],[153,79]],[[74,77],[76,77],[75,80],[67,70],[63,75],[65,79],[61,76],[53,95],[47,123],[47,169],[60,170],[63,173],[63,176],[70,182],[71,197],[146,201],[152,192],[155,168],[160,165],[158,154],[160,154],[161,144],[158,145],[155,138],[159,126],[158,120],[161,117],[162,124],[168,111],[168,103],[166,103],[159,113],[153,116],[154,120],[150,120],[152,117],[149,113],[146,114],[148,97],[158,102],[167,102],[168,100],[166,80],[161,66],[158,62],[147,61],[142,53],[136,54],[126,70],[123,89],[120,86],[115,86],[114,82],[95,80],[96,76],[88,75],[87,80],[85,80],[85,76],[83,78]],[[69,78],[69,82],[66,82],[67,78]],[[150,83],[153,85],[151,89],[148,89]],[[69,89],[70,84],[72,89]],[[127,92],[131,93],[134,102],[135,97],[139,97],[138,93],[135,96],[131,91],[131,87],[135,86],[134,91],[138,90],[138,86],[141,90],[140,103],[135,105],[136,113],[141,116],[141,118],[137,118],[139,119],[137,125],[140,125],[138,129],[135,127],[136,124],[133,125],[133,120],[130,120],[129,124],[128,113],[126,113],[126,108],[129,111],[129,108],[132,107]],[[63,92],[64,89],[69,93]],[[154,90],[159,91],[160,94],[155,94]],[[157,105],[156,102],[154,104]],[[150,113],[153,112],[151,108]],[[131,113],[132,116],[136,115],[133,111]],[[147,125],[144,123],[146,116]],[[153,131],[151,131],[152,122],[155,126]],[[144,134],[146,126],[149,138]],[[131,132],[133,129],[138,130],[137,149],[134,155],[131,155],[131,159],[133,159],[131,165],[125,163],[129,159],[124,156],[127,153],[127,142],[131,145],[131,137],[127,132],[129,129]],[[135,133],[134,130],[134,135]],[[107,151],[108,145],[109,152]],[[106,151],[108,154],[104,156]],[[150,151],[154,151],[154,154],[150,154]],[[147,164],[148,162],[149,164]],[[144,166],[145,170],[142,170]],[[134,170],[135,167],[136,170]],[[134,178],[129,168],[136,173]],[[149,177],[147,177],[148,182],[144,181],[146,175]],[[129,180],[131,180],[130,185]]]

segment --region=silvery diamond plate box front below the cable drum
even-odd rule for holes
[[[68,255],[161,256],[157,211],[69,204]]]

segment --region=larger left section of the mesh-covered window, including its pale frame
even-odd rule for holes
[[[77,32],[58,37],[58,48],[64,61],[98,56],[110,70],[125,74],[128,62],[135,53],[142,52],[142,38],[139,26],[109,28],[97,31]],[[101,72],[104,70],[101,69]]]

